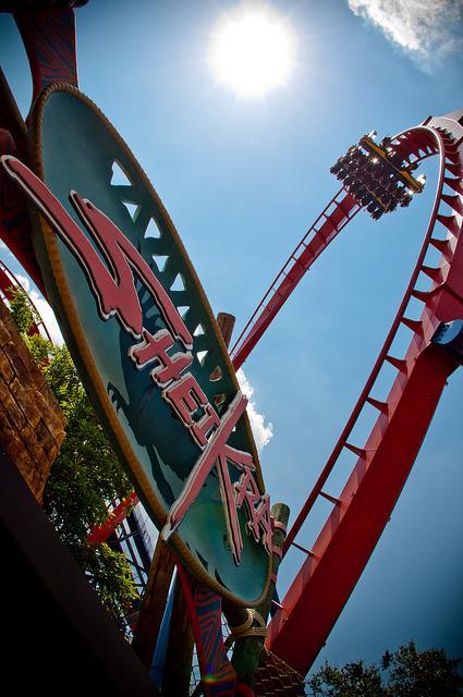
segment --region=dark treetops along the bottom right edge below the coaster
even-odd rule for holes
[[[459,697],[463,680],[461,659],[443,649],[418,651],[413,641],[394,653],[386,651],[380,667],[363,660],[343,668],[328,662],[308,680],[313,697]]]

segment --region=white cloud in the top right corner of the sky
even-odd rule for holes
[[[441,58],[462,45],[463,0],[349,0],[360,16],[417,58]]]

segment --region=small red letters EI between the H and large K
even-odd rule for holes
[[[192,374],[165,390],[162,396],[173,406],[197,444],[207,445],[210,433],[220,426],[220,418]],[[198,409],[203,416],[195,421],[193,416]]]

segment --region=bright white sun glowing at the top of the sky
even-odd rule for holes
[[[263,97],[284,85],[295,65],[295,38],[268,7],[240,7],[212,34],[209,64],[219,84],[240,97]]]

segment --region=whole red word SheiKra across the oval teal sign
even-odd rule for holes
[[[124,331],[134,338],[136,343],[129,348],[127,360],[132,362],[134,369],[153,365],[149,372],[151,380],[200,449],[200,455],[186,478],[183,490],[168,513],[161,537],[169,539],[179,527],[210,470],[216,467],[234,562],[240,564],[243,550],[236,515],[236,510],[241,508],[244,508],[247,530],[270,553],[272,519],[269,497],[259,492],[253,474],[255,465],[252,456],[228,444],[232,430],[246,408],[246,398],[239,391],[224,414],[219,417],[216,407],[188,371],[193,363],[193,337],[179,311],[149,265],[101,210],[76,192],[70,192],[69,198],[76,213],[106,262],[40,179],[12,156],[3,156],[1,162],[78,260],[92,288],[100,317],[108,320],[115,316]],[[166,329],[150,333],[143,326],[134,274],[151,294]],[[175,350],[175,344],[183,346],[183,351]],[[229,463],[241,473],[235,484],[230,478]]]

